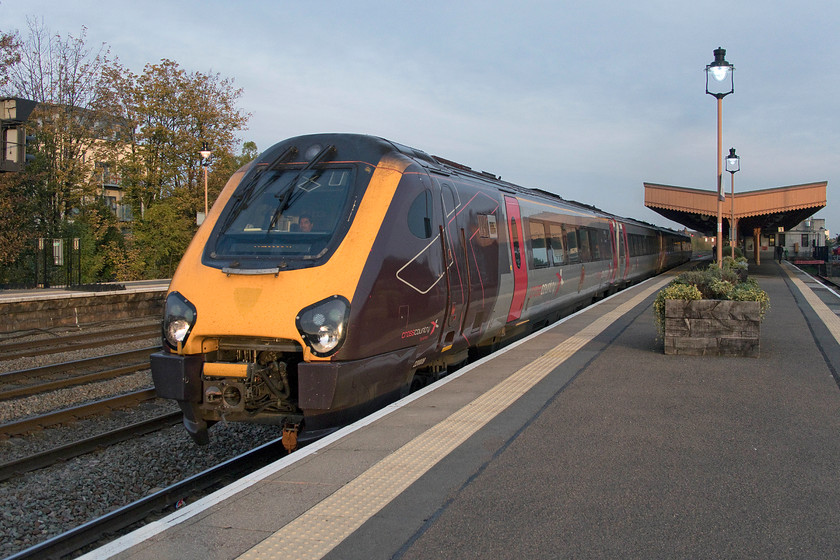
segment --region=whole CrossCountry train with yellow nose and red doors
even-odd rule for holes
[[[690,256],[683,233],[383,138],[291,138],[184,253],[156,393],[200,445],[231,421],[293,448]]]

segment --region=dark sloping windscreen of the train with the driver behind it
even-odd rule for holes
[[[322,256],[348,207],[354,176],[353,167],[262,172],[231,199],[208,256],[260,261]]]

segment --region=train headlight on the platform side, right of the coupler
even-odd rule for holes
[[[338,351],[344,342],[349,316],[350,302],[332,296],[302,309],[295,324],[312,353],[325,357]]]

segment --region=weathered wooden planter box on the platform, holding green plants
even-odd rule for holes
[[[665,300],[665,353],[690,356],[759,355],[757,301]]]

